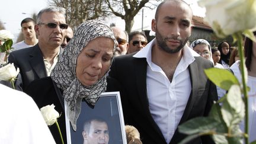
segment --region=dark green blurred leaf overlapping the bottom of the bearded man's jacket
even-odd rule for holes
[[[196,117],[181,124],[178,130],[186,135],[194,135],[196,133],[213,132],[219,124],[212,117]]]

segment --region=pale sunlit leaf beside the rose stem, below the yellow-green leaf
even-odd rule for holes
[[[241,96],[241,89],[238,85],[232,85],[229,89],[226,100],[223,101],[222,107],[222,118],[230,129],[235,124],[239,124],[245,116],[245,105]]]

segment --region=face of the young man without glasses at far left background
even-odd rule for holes
[[[23,23],[21,25],[21,31],[25,39],[33,39],[36,37],[36,31],[34,30],[34,23],[32,21]]]

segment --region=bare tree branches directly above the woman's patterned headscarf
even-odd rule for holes
[[[49,5],[66,9],[66,23],[73,29],[86,20],[94,20],[107,17],[107,7],[104,0],[52,0]]]

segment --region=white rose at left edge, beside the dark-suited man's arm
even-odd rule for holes
[[[0,80],[14,81],[19,72],[20,72],[20,69],[17,68],[16,70],[13,63],[8,63],[8,65],[0,68]]]

